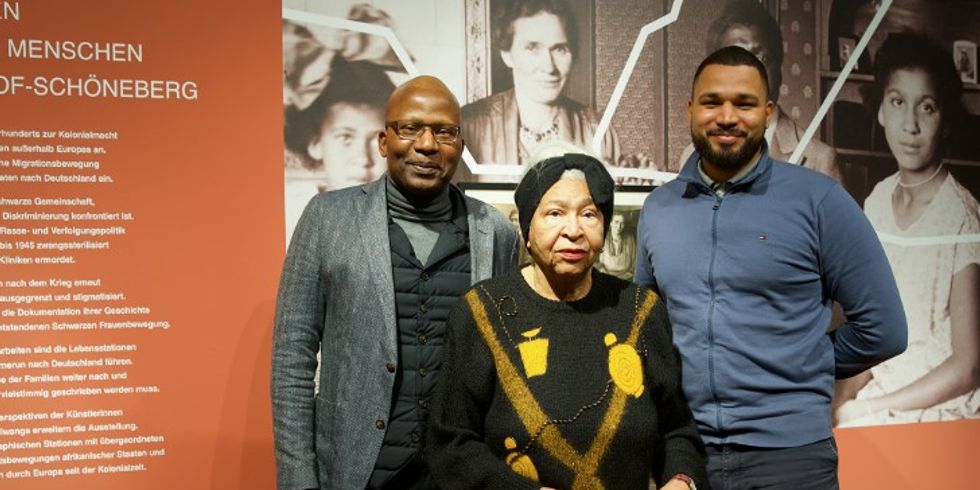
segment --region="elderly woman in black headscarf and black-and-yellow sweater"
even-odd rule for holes
[[[478,284],[447,322],[429,419],[445,488],[662,488],[706,481],[664,303],[597,272],[613,180],[549,158],[515,192],[532,263]]]

